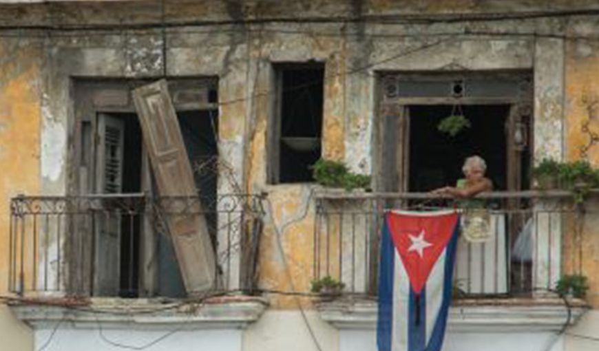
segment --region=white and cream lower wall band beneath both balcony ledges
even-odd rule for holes
[[[94,323],[85,326],[64,321],[44,323],[32,332],[23,324],[6,322],[12,319],[8,308],[0,308],[1,350],[32,351],[45,345],[45,351],[116,351],[123,350],[105,339],[130,347],[140,347],[164,337],[147,350],[151,351],[317,351],[300,311],[267,310],[255,323],[228,329],[193,329],[185,325],[152,327],[141,330],[105,325],[102,334]],[[377,351],[376,330],[368,328],[337,330],[320,319],[318,312],[306,311],[306,319],[315,339],[326,351]],[[8,324],[7,324],[8,323]],[[54,329],[56,328],[56,332]],[[54,335],[52,335],[54,333]],[[580,334],[598,337],[599,311],[591,310],[567,333],[554,332],[459,332],[449,331],[443,351],[595,351],[599,341],[572,337]],[[102,335],[105,337],[103,339]],[[52,337],[51,337],[52,336]],[[32,341],[35,341],[35,348]],[[50,342],[48,343],[48,341]],[[6,349],[5,349],[6,346]]]

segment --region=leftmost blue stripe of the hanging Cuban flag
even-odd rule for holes
[[[394,260],[395,246],[391,241],[391,233],[385,220],[381,237],[381,260],[379,262],[379,319],[377,321],[379,351],[391,351]]]

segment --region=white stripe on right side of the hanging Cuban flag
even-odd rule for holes
[[[437,321],[439,310],[443,304],[443,279],[445,278],[445,253],[447,248],[441,252],[439,259],[432,266],[430,275],[426,279],[426,345],[430,340],[434,322]]]

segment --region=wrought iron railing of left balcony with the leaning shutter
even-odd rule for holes
[[[180,296],[168,223],[190,215],[207,222],[215,288],[253,290],[263,227],[258,195],[143,193],[13,198],[9,288],[21,295]]]

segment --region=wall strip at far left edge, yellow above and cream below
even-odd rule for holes
[[[8,257],[9,199],[39,193],[41,45],[0,38],[0,257]],[[30,270],[30,265],[25,265]],[[27,277],[30,277],[27,275]],[[8,290],[8,259],[0,262],[0,295]],[[32,332],[0,306],[3,348],[33,350]]]

